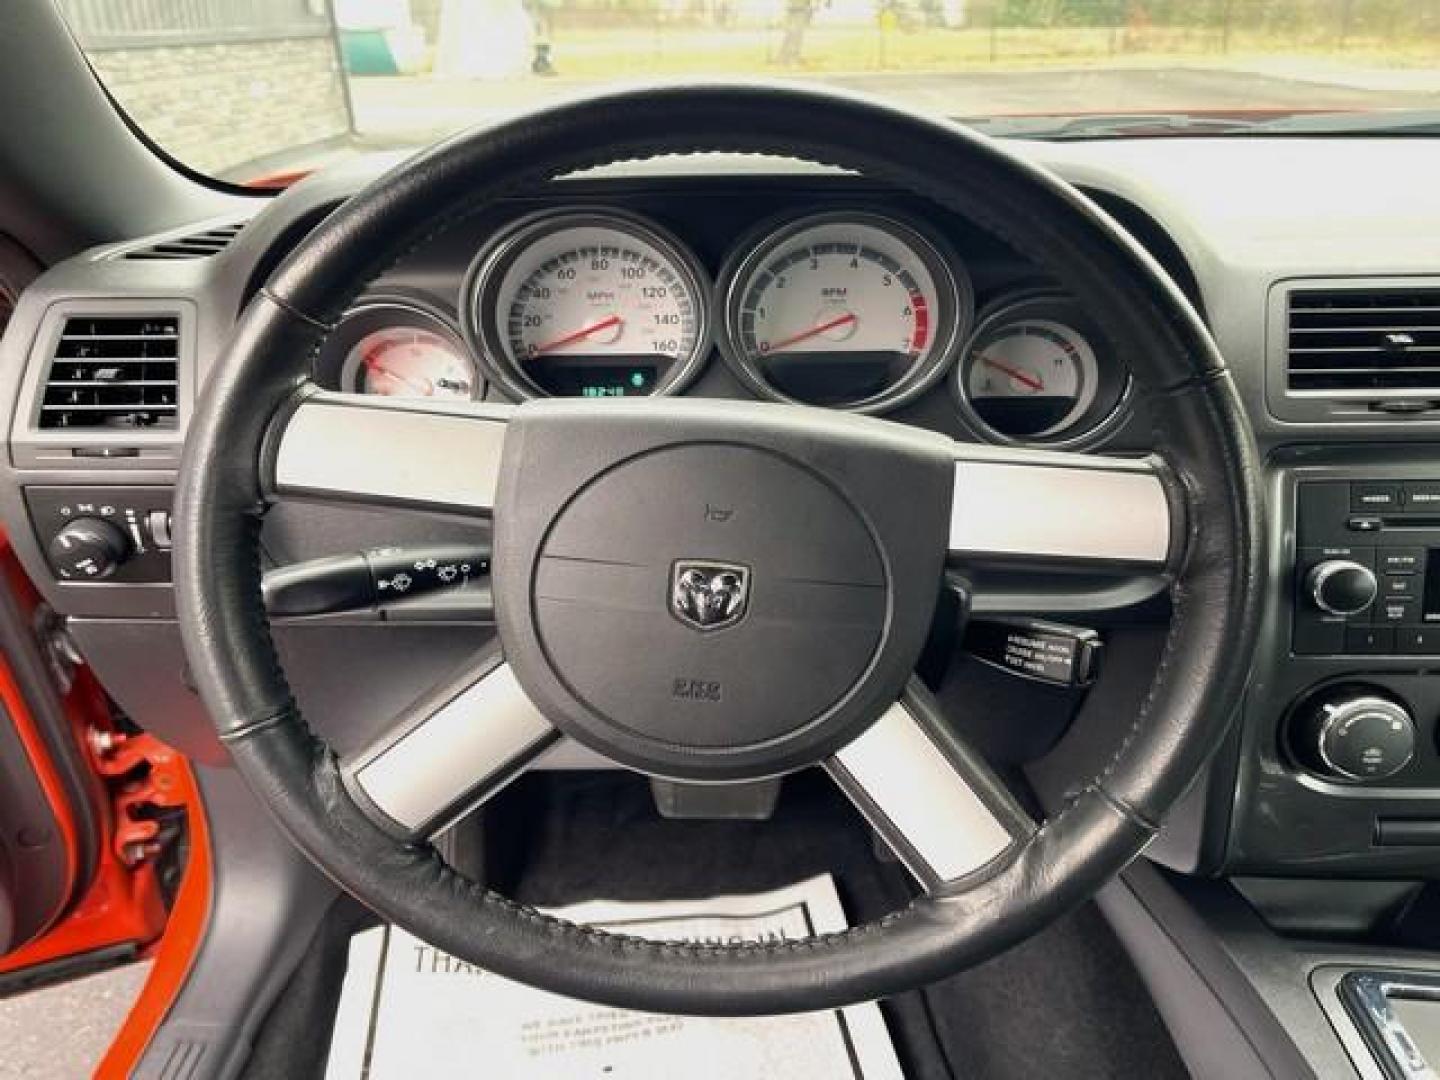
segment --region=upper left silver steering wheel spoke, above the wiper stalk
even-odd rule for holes
[[[488,517],[511,408],[314,390],[279,413],[266,491]]]

